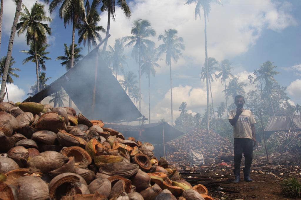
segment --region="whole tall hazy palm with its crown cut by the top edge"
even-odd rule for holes
[[[209,110],[209,67],[208,67],[208,50],[207,50],[207,17],[209,16],[209,12],[211,10],[211,3],[222,4],[221,0],[188,0],[186,4],[197,3],[194,12],[194,18],[197,19],[199,17],[201,19],[201,11],[200,8],[203,8],[204,13],[204,22],[205,22],[205,67],[206,67],[206,94],[207,94],[207,110]],[[207,113],[207,132],[209,133],[209,113]]]

